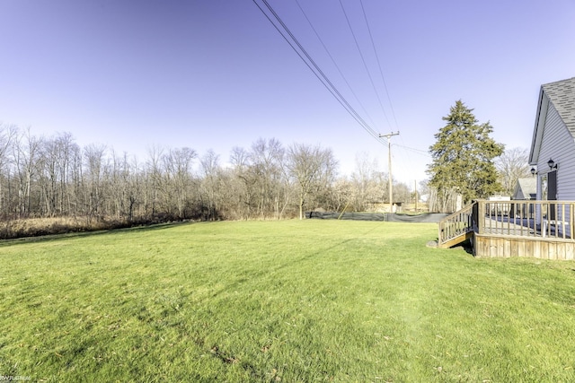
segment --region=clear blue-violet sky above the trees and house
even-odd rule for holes
[[[410,185],[456,100],[528,148],[540,85],[575,76],[575,0],[268,1],[374,131],[400,131],[393,174]],[[342,173],[362,152],[387,171],[386,144],[252,0],[0,0],[0,55],[0,122],[34,135],[222,164],[276,138],[332,148]]]

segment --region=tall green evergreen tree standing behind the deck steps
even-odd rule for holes
[[[479,124],[473,109],[461,100],[443,120],[447,125],[439,129],[437,142],[429,147],[433,158],[427,170],[431,176],[429,186],[436,188],[439,198],[455,192],[465,204],[499,191],[493,160],[501,155],[504,146],[490,137],[493,127],[489,122]]]

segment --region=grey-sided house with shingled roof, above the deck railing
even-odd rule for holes
[[[529,164],[538,200],[575,201],[575,77],[541,86]]]

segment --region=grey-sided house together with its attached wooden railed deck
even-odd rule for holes
[[[438,223],[438,247],[470,239],[477,257],[574,260],[575,77],[541,86],[529,164],[533,178],[517,182],[512,209],[474,201]]]

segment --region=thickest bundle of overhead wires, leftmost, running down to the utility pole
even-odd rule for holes
[[[254,4],[256,4],[256,6],[260,9],[261,13],[263,13],[266,18],[272,23],[272,25],[276,28],[276,30],[279,31],[279,34],[286,39],[286,41],[288,42],[289,46],[294,49],[296,51],[297,56],[299,56],[304,62],[305,65],[307,65],[307,67],[310,68],[310,70],[312,70],[312,72],[314,72],[315,76],[320,80],[321,83],[323,83],[323,86],[326,87],[326,89],[328,91],[330,91],[332,93],[332,96],[335,97],[336,100],[338,100],[341,104],[341,106],[343,106],[344,109],[346,109],[348,111],[348,113],[351,115],[352,118],[354,118],[358,124],[360,126],[362,126],[369,135],[372,135],[374,138],[376,138],[376,140],[379,141],[379,137],[376,133],[376,131],[371,128],[371,126],[369,126],[367,124],[367,122],[361,118],[361,116],[359,116],[358,112],[353,109],[353,107],[351,105],[349,105],[349,102],[347,100],[345,100],[345,98],[341,95],[340,91],[337,90],[337,88],[333,85],[333,83],[327,78],[327,76],[325,74],[323,74],[323,71],[320,69],[320,67],[315,64],[314,59],[312,57],[309,56],[309,54],[307,53],[307,51],[305,51],[305,48],[302,47],[302,45],[299,43],[299,41],[296,39],[296,37],[294,36],[294,34],[291,32],[291,30],[288,29],[288,26],[281,20],[281,18],[279,17],[278,13],[276,13],[273,8],[271,7],[271,5],[267,2],[267,0],[262,0],[263,4],[266,5],[266,7],[268,8],[268,10],[270,11],[271,14],[273,14],[273,16],[275,17],[275,19],[279,22],[279,24],[282,26],[282,28],[284,30],[286,30],[286,32],[288,33],[289,37],[291,39],[294,40],[294,42],[296,43],[297,47],[301,50],[301,52],[305,55],[305,57],[309,60],[309,63],[307,61],[305,61],[305,58],[302,57],[302,55],[300,54],[300,52],[294,47],[294,45],[291,43],[291,41],[289,41],[289,39],[286,37],[286,35],[284,35],[284,33],[279,29],[279,27],[276,25],[275,22],[273,22],[270,18],[270,16],[268,15],[268,13],[266,13],[263,8],[261,8],[260,4],[258,4],[256,2],[256,0],[252,0]],[[314,66],[314,68],[312,68],[311,65]],[[314,70],[315,69],[315,70]],[[317,71],[317,72],[315,72]]]

